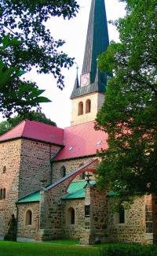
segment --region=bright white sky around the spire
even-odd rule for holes
[[[49,20],[48,26],[55,39],[64,39],[66,41],[60,50],[64,50],[70,57],[75,57],[75,62],[79,65],[80,74],[91,0],[78,0],[78,2],[81,8],[77,17],[71,20],[55,17]],[[125,5],[119,0],[105,0],[105,5],[108,20],[116,20],[125,15]],[[119,34],[111,24],[108,24],[108,32],[110,41],[119,40]],[[35,71],[25,75],[28,80],[35,81],[38,87],[46,90],[43,95],[52,102],[42,104],[42,112],[46,114],[46,117],[55,121],[60,128],[70,126],[71,100],[69,98],[75,83],[76,65],[69,70],[64,70],[63,74],[65,76],[63,91],[57,88],[57,82],[53,79],[53,75],[37,75]]]

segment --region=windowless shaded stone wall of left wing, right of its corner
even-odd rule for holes
[[[57,154],[60,147],[47,143],[22,140],[20,155],[20,191],[23,197],[38,190],[42,186],[51,184],[50,159]]]

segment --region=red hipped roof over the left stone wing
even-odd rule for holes
[[[0,143],[10,139],[35,139],[38,141],[64,145],[64,129],[56,126],[43,124],[37,121],[22,121],[9,132],[0,136]]]

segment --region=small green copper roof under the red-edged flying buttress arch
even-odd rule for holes
[[[64,195],[62,199],[85,198],[86,180],[75,181],[68,187],[68,194]]]

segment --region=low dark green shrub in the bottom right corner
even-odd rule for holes
[[[100,256],[157,256],[157,247],[130,244],[108,245],[100,249]]]

